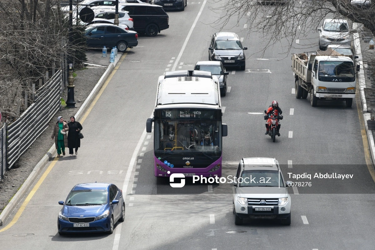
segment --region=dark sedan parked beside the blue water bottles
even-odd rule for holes
[[[85,30],[86,44],[91,48],[112,48],[117,46],[119,52],[138,45],[138,33],[125,30],[126,25],[92,24]]]

